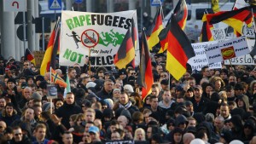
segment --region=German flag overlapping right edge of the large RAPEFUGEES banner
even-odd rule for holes
[[[132,42],[131,31],[125,34],[125,38],[121,43],[117,54],[114,56],[113,64],[119,69],[125,68],[135,58],[135,49]]]

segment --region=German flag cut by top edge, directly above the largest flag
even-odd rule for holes
[[[175,9],[173,10],[173,14],[177,19],[178,25],[184,30],[188,17],[188,8],[185,0],[179,0]]]

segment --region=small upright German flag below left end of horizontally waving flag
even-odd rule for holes
[[[212,32],[213,26],[210,25],[206,19],[205,15],[203,17],[203,26],[201,28],[201,36],[200,36],[200,42],[208,42],[213,41]]]

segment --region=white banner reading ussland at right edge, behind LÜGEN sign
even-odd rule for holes
[[[249,48],[251,50],[253,49],[255,40],[254,39],[247,39],[247,43]],[[254,56],[254,59],[256,59],[256,56]],[[251,55],[242,55],[239,57],[232,58],[230,60],[224,60],[224,65],[255,65],[254,60]]]

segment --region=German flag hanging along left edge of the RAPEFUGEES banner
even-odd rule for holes
[[[44,59],[42,61],[41,67],[40,67],[40,74],[44,76],[46,72],[49,72],[49,67],[53,66],[55,67],[55,57],[58,53],[58,42],[59,42],[59,32],[60,32],[60,26],[59,22],[56,22],[55,29],[53,32],[51,32],[51,35],[49,37],[49,43],[47,45],[47,49],[44,54]]]

